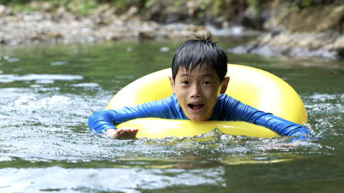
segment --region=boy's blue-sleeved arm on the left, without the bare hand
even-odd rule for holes
[[[89,127],[99,133],[105,133],[108,129],[117,129],[114,125],[148,117],[177,119],[179,116],[175,108],[174,97],[170,96],[160,101],[133,107],[98,111],[89,117]]]

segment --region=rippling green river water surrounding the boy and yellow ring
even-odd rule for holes
[[[301,96],[316,138],[297,147],[217,130],[116,140],[88,128],[121,88],[170,67],[180,43],[1,46],[0,192],[343,192],[344,61],[229,55]]]

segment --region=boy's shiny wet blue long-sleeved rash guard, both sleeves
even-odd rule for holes
[[[148,117],[189,120],[178,103],[176,94],[173,94],[160,101],[96,112],[89,118],[89,127],[99,133],[105,133],[107,129],[117,129],[114,125]],[[274,116],[271,113],[256,110],[227,94],[219,96],[209,121],[245,121],[286,136],[303,136],[309,133],[307,128],[302,125]]]

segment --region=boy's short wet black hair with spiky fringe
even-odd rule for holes
[[[211,36],[205,38],[203,36],[196,36],[192,34],[196,39],[189,39],[179,45],[172,60],[172,76],[173,80],[176,80],[176,76],[180,67],[184,67],[188,73],[189,64],[190,73],[197,64],[200,64],[199,70],[203,63],[208,66],[212,66],[212,70],[216,70],[217,76],[220,78],[220,82],[223,81],[227,74],[227,62],[228,56],[226,52],[216,43],[213,42]]]

